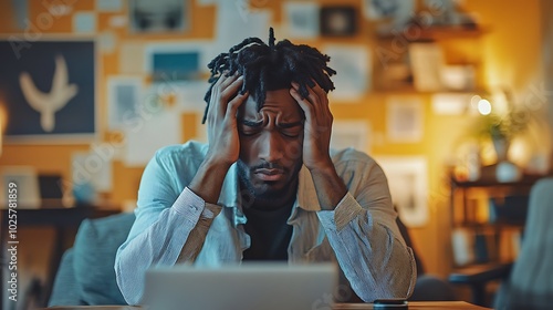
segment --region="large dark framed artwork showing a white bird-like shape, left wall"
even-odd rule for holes
[[[0,105],[7,142],[92,138],[96,132],[95,43],[0,41]]]

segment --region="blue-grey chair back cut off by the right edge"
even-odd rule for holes
[[[551,309],[553,300],[553,177],[530,192],[521,251],[495,309]]]

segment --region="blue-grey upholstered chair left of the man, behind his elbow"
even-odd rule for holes
[[[114,264],[134,220],[134,214],[85,219],[63,255],[48,306],[126,304]]]

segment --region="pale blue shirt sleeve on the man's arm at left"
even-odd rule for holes
[[[190,189],[179,194],[174,187],[153,158],[142,178],[136,220],[115,257],[117,285],[129,304],[140,303],[148,268],[194,260],[220,211]]]

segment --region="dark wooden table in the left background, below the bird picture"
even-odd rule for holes
[[[63,256],[63,251],[71,247],[67,244],[67,237],[73,238],[76,228],[81,225],[81,221],[85,218],[96,218],[104,217],[113,214],[119,213],[114,209],[105,209],[102,207],[95,206],[79,206],[73,208],[62,208],[62,207],[51,207],[51,208],[39,208],[39,209],[17,209],[17,227],[18,230],[23,227],[53,227],[54,230],[54,246],[52,249],[52,259],[50,260],[50,268],[48,271],[48,280],[44,286],[44,291],[40,293],[40,301],[42,304],[46,304],[48,299],[50,298],[50,292],[52,289],[52,285],[55,278],[55,273],[58,272],[58,267],[60,260]],[[8,240],[8,209],[1,209],[1,228],[0,228],[0,247],[4,247]],[[67,234],[71,232],[72,234]],[[0,254],[0,291],[3,293],[4,281],[3,281],[3,272],[6,271],[6,262],[9,257],[7,251]],[[19,288],[19,290],[23,290],[24,288]]]

